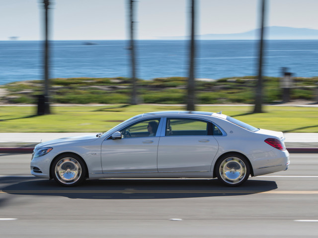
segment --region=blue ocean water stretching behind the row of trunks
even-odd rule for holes
[[[129,77],[128,41],[52,41],[50,78]],[[188,75],[188,41],[136,41],[137,77]],[[265,42],[264,75],[318,76],[318,40]],[[196,78],[257,75],[258,42],[197,41]],[[43,42],[0,41],[0,84],[43,79]]]

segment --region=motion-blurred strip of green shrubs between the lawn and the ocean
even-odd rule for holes
[[[199,104],[254,103],[255,76],[230,77],[214,81],[196,81],[196,99]],[[138,82],[138,94],[143,103],[184,104],[186,77],[165,77]],[[314,100],[318,77],[295,78],[297,88],[291,89],[292,99]],[[264,77],[263,102],[282,100],[279,77]],[[51,79],[53,103],[72,104],[127,104],[131,98],[131,80],[116,78],[55,78]],[[91,87],[94,86],[94,87]],[[107,88],[105,88],[107,86]],[[109,86],[127,86],[109,87]],[[311,87],[310,87],[311,86]],[[316,87],[313,87],[316,86]],[[29,80],[3,85],[6,100],[11,103],[37,103],[36,95],[43,94],[43,80]],[[10,97],[13,96],[13,97]]]

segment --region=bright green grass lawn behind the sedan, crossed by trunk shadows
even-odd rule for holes
[[[220,112],[258,128],[283,132],[318,132],[318,108],[266,106],[262,114],[249,114],[247,106],[201,106],[197,111]],[[135,115],[184,110],[182,106],[112,105],[51,107],[52,114],[34,116],[30,106],[0,107],[0,132],[103,132]]]

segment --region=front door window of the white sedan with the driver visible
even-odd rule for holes
[[[123,138],[156,136],[159,118],[137,121],[121,129]]]

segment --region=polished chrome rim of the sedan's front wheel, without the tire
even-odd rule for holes
[[[76,183],[81,178],[81,173],[79,162],[71,157],[62,158],[55,166],[55,176],[63,184]]]

